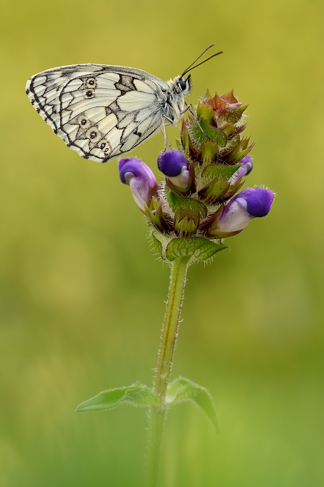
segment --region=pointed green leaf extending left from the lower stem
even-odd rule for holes
[[[133,384],[120,389],[109,389],[82,402],[76,412],[104,411],[116,408],[122,402],[133,406],[161,406],[160,397],[143,384]]]

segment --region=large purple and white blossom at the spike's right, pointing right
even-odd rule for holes
[[[243,230],[252,218],[268,215],[274,193],[270,189],[248,187],[236,194],[225,206],[213,231],[237,232]]]

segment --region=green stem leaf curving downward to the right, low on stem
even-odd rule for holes
[[[207,389],[198,386],[198,384],[185,377],[179,377],[169,384],[166,391],[165,404],[171,405],[183,401],[191,401],[199,406],[212,421],[216,431],[219,432],[213,398]]]

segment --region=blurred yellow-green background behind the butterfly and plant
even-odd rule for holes
[[[225,54],[193,72],[190,101],[234,86],[256,143],[248,184],[277,197],[189,269],[172,376],[211,391],[221,433],[173,408],[161,486],[323,486],[323,1],[11,0],[1,14],[1,486],[141,486],[145,410],[74,409],[151,384],[169,279],[116,161],[68,150],[26,80],[87,62],[169,79],[211,42]],[[133,155],[158,175],[162,145]]]

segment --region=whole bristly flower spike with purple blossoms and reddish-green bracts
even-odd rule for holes
[[[178,150],[158,157],[165,176],[160,185],[139,159],[120,161],[121,180],[147,216],[152,243],[163,260],[171,261],[171,248],[192,256],[190,262],[207,259],[220,250],[222,242],[215,239],[233,237],[250,220],[269,213],[274,198],[270,189],[241,190],[253,168],[253,144],[242,136],[246,108],[233,90],[211,96],[207,89],[195,116],[188,111],[181,120]]]

